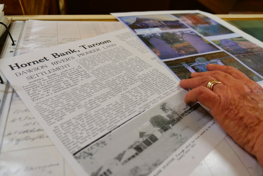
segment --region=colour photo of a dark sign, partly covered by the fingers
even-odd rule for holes
[[[251,80],[255,82],[262,81],[260,76],[243,66],[235,58],[225,52],[202,54],[172,61],[164,61],[164,64],[167,65],[180,80],[190,78],[190,74],[193,72],[207,71],[206,66],[209,63],[235,67],[245,73]]]

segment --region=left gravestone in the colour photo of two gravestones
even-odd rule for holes
[[[184,56],[175,51],[164,39],[151,36],[149,42],[160,52],[160,59],[177,58]]]

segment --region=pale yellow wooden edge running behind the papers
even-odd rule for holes
[[[263,20],[263,14],[216,14],[223,20]],[[112,15],[9,15],[12,21],[118,21]]]

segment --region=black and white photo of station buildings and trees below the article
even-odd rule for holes
[[[92,176],[150,174],[213,119],[200,104],[184,103],[185,93],[183,90],[130,120],[76,153],[75,159]],[[174,159],[180,160],[190,148],[186,145]]]

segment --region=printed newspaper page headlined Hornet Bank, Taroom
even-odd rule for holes
[[[225,137],[128,29],[0,68],[78,175],[187,175]]]

